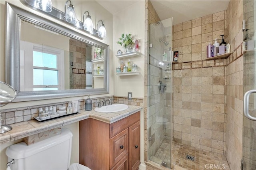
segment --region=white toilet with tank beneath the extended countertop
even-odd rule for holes
[[[11,170],[90,170],[74,163],[70,165],[72,132],[62,128],[61,134],[41,140],[31,145],[20,142],[6,150]]]

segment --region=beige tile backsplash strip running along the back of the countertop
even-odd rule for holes
[[[98,102],[102,101],[103,97],[98,98],[91,98],[92,99],[92,107],[97,107]],[[114,97],[108,96],[104,97],[105,100],[111,99],[112,103],[122,103],[127,105],[136,105],[136,106],[143,106],[143,99],[132,98],[132,100],[128,100],[127,97]],[[78,110],[85,109],[85,100],[78,100]],[[113,102],[114,101],[114,102]],[[40,107],[50,107],[56,106],[57,108],[60,106],[68,107],[68,103],[72,103],[72,101],[60,102],[60,103],[52,103],[46,105],[36,105],[36,106],[29,106],[29,107],[20,107],[15,109],[1,109],[1,117],[4,119],[5,125],[10,125],[13,123],[19,123],[23,121],[30,121],[34,119],[34,117],[38,116],[38,109]]]

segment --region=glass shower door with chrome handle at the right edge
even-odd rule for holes
[[[242,170],[256,169],[256,1],[244,0],[244,21],[247,45],[244,49],[244,112]],[[248,41],[249,40],[249,41]],[[248,92],[249,91],[249,92]],[[248,92],[248,93],[246,93]],[[250,93],[252,92],[252,93]],[[248,97],[246,97],[248,96]],[[247,98],[247,99],[246,99]],[[248,119],[249,118],[249,119]],[[255,118],[255,119],[254,119]]]

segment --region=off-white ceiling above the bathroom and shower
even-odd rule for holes
[[[116,14],[139,0],[96,0],[110,13]],[[173,17],[172,24],[226,10],[229,0],[151,0],[160,20]]]

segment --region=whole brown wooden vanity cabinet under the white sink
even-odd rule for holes
[[[92,170],[137,170],[140,165],[140,112],[109,124],[79,122],[79,163]]]

